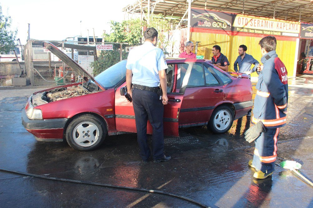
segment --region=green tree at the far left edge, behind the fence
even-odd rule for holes
[[[10,16],[3,15],[0,5],[0,46],[2,46],[0,52],[9,52],[12,49],[12,45],[15,45],[14,40],[17,30],[10,30],[11,22]]]

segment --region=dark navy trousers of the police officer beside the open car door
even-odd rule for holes
[[[163,104],[155,92],[134,89],[132,92],[133,107],[136,117],[137,140],[141,159],[150,157],[151,151],[147,143],[147,121],[152,126],[152,156],[154,160],[164,155],[163,136]]]

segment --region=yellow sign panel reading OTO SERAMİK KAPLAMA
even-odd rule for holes
[[[237,14],[233,31],[298,37],[300,23]]]

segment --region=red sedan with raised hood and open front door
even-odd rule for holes
[[[44,42],[44,46],[88,81],[29,97],[22,113],[27,131],[39,141],[65,138],[80,151],[97,148],[105,135],[136,132],[132,103],[122,92],[126,86],[126,60],[94,78],[51,43]],[[165,135],[178,136],[179,128],[203,125],[214,133],[225,133],[234,119],[252,108],[252,85],[246,74],[226,73],[209,60],[167,59],[167,65]],[[147,133],[152,133],[149,122]]]

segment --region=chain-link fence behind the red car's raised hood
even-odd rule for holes
[[[53,41],[51,42],[80,67],[96,76],[110,66],[127,59],[129,51],[139,44]],[[25,67],[32,85],[63,85],[80,82],[67,63],[43,47],[43,41],[29,40],[24,47]]]

